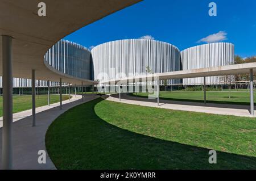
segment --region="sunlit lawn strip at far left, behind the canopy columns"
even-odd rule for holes
[[[62,100],[67,100],[68,95],[62,95]],[[51,104],[60,102],[59,95],[50,96]],[[36,107],[46,106],[47,95],[36,95]],[[32,108],[31,95],[13,96],[13,113],[30,110]],[[3,97],[0,97],[0,116],[3,116]]]

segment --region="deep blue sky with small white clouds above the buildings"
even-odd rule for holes
[[[217,4],[217,16],[208,15],[210,2]],[[64,39],[89,48],[143,36],[166,41],[180,50],[219,40],[233,43],[235,53],[242,57],[256,56],[256,1],[145,0]]]

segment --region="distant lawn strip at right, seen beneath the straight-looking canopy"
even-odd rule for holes
[[[136,95],[136,93],[130,94]],[[220,104],[241,104],[250,105],[250,92],[230,92],[231,98],[229,99],[229,92],[226,91],[207,91],[208,103]],[[148,97],[147,92],[139,92],[138,96],[143,98]],[[203,91],[160,91],[160,99],[188,101],[188,102],[204,102]],[[254,102],[256,102],[256,94],[254,92]]]

